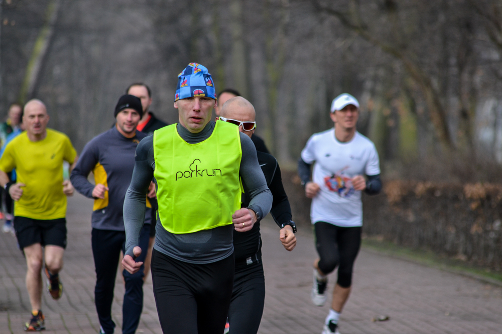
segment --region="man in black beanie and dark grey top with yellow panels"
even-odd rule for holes
[[[123,95],[115,106],[115,126],[89,141],[79,162],[71,173],[75,189],[88,198],[94,198],[92,208],[92,254],[96,268],[94,302],[99,317],[100,333],[111,334],[115,323],[111,318],[113,288],[117,274],[120,250],[125,253],[123,203],[131,183],[136,147],[147,137],[137,131],[143,116],[139,98]],[[95,185],[87,180],[94,174]],[[150,204],[147,201],[145,225],[138,242],[147,249],[150,236]],[[146,253],[145,253],[146,255]],[[144,260],[145,255],[140,259]],[[143,309],[144,267],[135,274],[123,270],[126,292],[122,303],[122,333],[136,331]]]

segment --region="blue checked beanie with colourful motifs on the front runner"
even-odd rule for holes
[[[178,86],[174,101],[189,97],[209,97],[216,100],[213,79],[207,69],[197,63],[190,63],[178,74]]]

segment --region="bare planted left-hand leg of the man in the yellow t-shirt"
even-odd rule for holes
[[[23,248],[28,270],[26,272],[26,289],[30,296],[33,310],[38,310],[42,304],[42,245],[35,243]]]

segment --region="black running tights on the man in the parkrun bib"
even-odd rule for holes
[[[154,248],[152,280],[164,334],[221,334],[233,286],[233,254],[213,263],[193,264]]]

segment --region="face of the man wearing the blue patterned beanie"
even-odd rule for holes
[[[180,124],[191,133],[199,133],[211,120],[216,100],[208,97],[189,97],[178,100],[174,108],[178,109]]]

